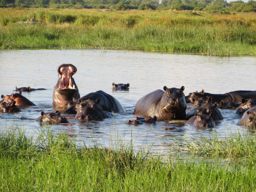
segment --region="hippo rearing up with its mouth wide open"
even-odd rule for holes
[[[73,97],[80,98],[78,87],[72,77],[76,70],[72,64],[62,64],[57,68],[60,78],[53,90],[53,107],[64,107],[72,101]]]

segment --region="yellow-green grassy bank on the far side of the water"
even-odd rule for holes
[[[43,23],[17,23],[34,18]],[[254,13],[0,9],[1,49],[125,49],[256,55]]]

